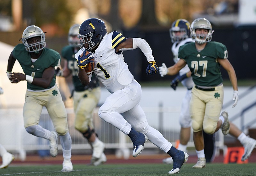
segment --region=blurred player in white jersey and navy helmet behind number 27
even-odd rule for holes
[[[188,44],[191,42],[195,42],[192,38],[190,38],[190,23],[188,20],[185,19],[178,19],[175,20],[172,23],[172,28],[170,28],[170,37],[172,40],[172,54],[173,54],[173,61],[177,63],[180,59],[178,58],[178,52],[180,46],[184,44]],[[166,68],[166,65],[163,63],[162,67],[159,67],[159,71],[162,73],[163,67]],[[162,77],[164,75],[161,75]],[[178,150],[187,151],[187,145],[188,141],[190,139],[190,131],[191,131],[191,118],[189,116],[189,102],[191,99],[191,90],[194,86],[194,82],[191,77],[191,72],[188,68],[188,65],[186,65],[184,68],[182,68],[179,72],[179,75],[176,76],[172,82],[171,87],[176,90],[177,85],[179,82],[187,88],[187,92],[185,97],[182,100],[181,104],[181,112],[180,112],[180,143],[178,146]],[[211,162],[212,159],[214,159],[213,153],[214,153],[214,140],[213,140],[213,134],[206,134],[204,133],[204,153],[206,162]],[[163,163],[165,164],[173,164],[172,157],[165,158],[163,160]]]

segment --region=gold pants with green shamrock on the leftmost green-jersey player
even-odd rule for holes
[[[57,85],[45,92],[26,92],[23,107],[24,126],[38,125],[42,109],[45,107],[59,135],[68,132],[67,111]]]

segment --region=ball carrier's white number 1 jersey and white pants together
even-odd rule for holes
[[[148,125],[146,115],[139,105],[141,86],[134,80],[124,62],[122,51],[115,51],[125,40],[122,34],[114,31],[104,36],[94,52],[93,74],[111,93],[100,107],[99,116],[125,134],[133,128],[147,135],[153,144],[168,152],[172,144],[159,131]],[[77,60],[82,52],[81,49],[76,53]]]

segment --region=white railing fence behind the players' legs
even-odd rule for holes
[[[128,158],[132,152],[132,142],[128,136],[117,130],[111,124],[101,120],[98,116],[98,109],[94,109],[94,125],[95,131],[99,135],[99,139],[106,144],[106,149],[116,149],[117,157]],[[159,130],[163,136],[175,145],[176,140],[179,139],[180,125],[178,124],[177,113],[180,113],[179,107],[145,107],[143,110],[148,117],[148,123]],[[72,138],[72,152],[79,150],[91,150],[91,146],[83,135],[74,127],[75,115],[73,108],[67,108],[69,133]],[[0,109],[0,143],[12,153],[16,153],[21,160],[26,160],[26,154],[37,150],[48,150],[48,140],[35,137],[26,132],[23,125],[22,108],[15,109]],[[173,118],[175,117],[175,118]],[[52,121],[44,108],[40,117],[40,125],[44,128],[53,130]],[[216,139],[216,146],[218,148],[224,147],[223,135],[218,135]],[[146,148],[157,148],[150,141],[145,143]],[[188,147],[194,147],[193,137],[191,132]],[[58,148],[61,149],[60,140],[58,141]]]

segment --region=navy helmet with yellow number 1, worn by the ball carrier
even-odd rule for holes
[[[107,34],[107,28],[104,21],[98,18],[89,18],[79,27],[78,38],[80,39],[80,48],[84,50],[93,50],[98,46],[102,38]]]

